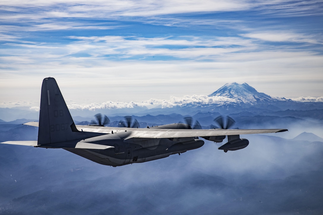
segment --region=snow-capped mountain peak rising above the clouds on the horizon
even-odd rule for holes
[[[247,83],[238,84],[236,82],[227,83],[208,96],[223,96],[233,98],[237,103],[253,105],[286,100],[282,98],[271,97],[265,93],[259,93],[254,87],[251,87]]]

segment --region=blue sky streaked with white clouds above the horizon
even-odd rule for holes
[[[323,1],[1,1],[0,107],[156,101],[248,83],[323,96]],[[186,97],[187,98],[187,97]]]

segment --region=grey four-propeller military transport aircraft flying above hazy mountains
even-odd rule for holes
[[[100,121],[101,117],[97,117]],[[113,167],[166,158],[172,154],[200,148],[204,145],[204,141],[199,137],[222,142],[225,136],[228,136],[228,142],[218,148],[227,152],[248,146],[249,141],[240,138],[240,134],[287,131],[287,129],[192,129],[190,125],[184,123],[147,128],[105,127],[101,122],[99,125],[75,125],[56,80],[52,77],[43,80],[39,123],[28,122],[25,125],[39,127],[37,141],[3,143],[63,148],[99,164]]]

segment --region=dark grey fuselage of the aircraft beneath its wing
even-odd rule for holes
[[[123,139],[126,135],[128,135],[127,133],[130,132],[123,131],[120,133],[102,135],[96,137],[96,139],[101,138],[97,141],[93,141],[91,138],[84,140],[91,143],[104,145],[107,140],[107,136],[110,136],[111,138],[112,136],[120,137],[120,139],[115,139],[116,137],[113,137],[113,141],[109,139],[109,144],[114,147],[112,149],[65,149],[80,156],[82,156],[84,151],[86,151],[87,154],[83,157],[88,158],[90,153],[92,155],[92,161],[99,164],[116,167],[166,158],[172,154],[183,153],[188,150],[200,148],[204,145],[203,140],[195,138],[183,139],[185,140],[183,142],[178,142],[167,138],[147,138],[146,140],[140,141],[138,144],[136,144],[131,143],[129,140],[127,141]]]

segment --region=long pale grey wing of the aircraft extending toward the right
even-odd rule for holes
[[[287,129],[149,129],[133,130],[126,138],[184,138],[284,132]]]

